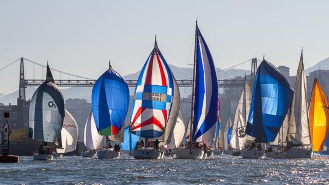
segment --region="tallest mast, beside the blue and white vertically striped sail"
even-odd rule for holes
[[[193,86],[192,86],[192,104],[191,104],[191,124],[190,124],[190,154],[192,147],[192,126],[194,119],[194,100],[195,100],[195,73],[196,73],[196,42],[197,42],[198,19],[195,21],[195,41],[194,41],[194,64],[193,64]]]

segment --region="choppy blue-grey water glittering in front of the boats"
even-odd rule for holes
[[[164,157],[135,160],[63,156],[53,161],[0,163],[1,184],[329,184],[329,157],[242,159],[220,155],[202,160]]]

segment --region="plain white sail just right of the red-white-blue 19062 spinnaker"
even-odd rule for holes
[[[167,149],[176,149],[180,147],[185,136],[185,127],[186,125],[184,124],[183,116],[179,112],[173,133],[171,135],[171,142],[168,145],[164,145],[164,147]]]

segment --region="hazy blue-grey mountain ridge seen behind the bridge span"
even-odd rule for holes
[[[173,65],[169,65],[171,71],[175,75],[176,80],[185,80],[185,79],[192,79],[193,77],[193,69],[192,68],[184,68],[184,67],[176,67]],[[219,71],[219,68],[216,68],[216,71]],[[140,70],[136,73],[129,74],[124,76],[124,79],[126,80],[137,80],[139,76]],[[225,72],[219,72],[217,73],[218,79],[229,79],[230,77],[237,77],[237,76],[243,76],[243,74],[250,74],[249,70],[241,70],[241,69],[230,69]],[[29,99],[32,97],[34,91],[37,88],[35,87],[27,87],[26,88],[26,99]],[[64,100],[67,100],[68,98],[80,98],[80,99],[86,99],[88,102],[91,102],[91,90],[92,87],[69,87],[66,89],[62,89]],[[132,95],[135,90],[135,87],[130,87],[129,91]],[[190,87],[183,87],[180,88],[181,97],[188,97],[188,95],[191,94],[192,89]],[[17,97],[18,97],[18,90],[4,95],[0,96],[0,103],[3,103],[5,105],[11,104],[17,104]]]

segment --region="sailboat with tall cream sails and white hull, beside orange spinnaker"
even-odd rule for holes
[[[285,158],[310,158],[312,156],[312,143],[303,50],[300,54],[294,90],[288,127],[289,142],[287,144],[287,151],[283,152],[283,156]]]

